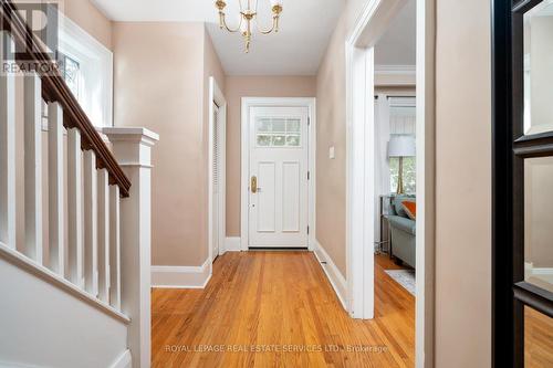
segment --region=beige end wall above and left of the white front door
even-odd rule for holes
[[[240,236],[241,98],[314,96],[314,76],[227,76],[227,236]]]

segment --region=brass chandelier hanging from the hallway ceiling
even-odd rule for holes
[[[255,4],[252,7],[251,2],[255,2]],[[242,7],[242,0],[238,0],[239,7],[240,7],[240,22],[236,29],[231,29],[227,24],[227,20],[225,18],[225,7],[227,7],[227,3],[225,0],[217,0],[215,2],[215,6],[217,9],[219,9],[219,28],[226,28],[227,31],[229,32],[238,32],[242,34],[246,43],[246,50],[244,52],[248,53],[250,52],[250,43],[251,43],[251,34],[252,34],[252,23],[255,20],[255,27],[258,32],[262,34],[269,34],[271,32],[279,32],[279,17],[280,13],[282,12],[282,0],[271,0],[271,6],[272,6],[272,12],[273,12],[273,25],[269,30],[262,30],[259,28],[258,22],[257,22],[257,15],[258,15],[258,0],[246,0],[246,9]]]

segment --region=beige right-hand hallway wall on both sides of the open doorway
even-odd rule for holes
[[[317,74],[316,236],[344,275],[344,42],[364,1],[347,2]],[[437,0],[437,11],[436,367],[489,367],[490,2]]]

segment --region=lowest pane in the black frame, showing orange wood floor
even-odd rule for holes
[[[524,307],[524,367],[553,367],[553,318]]]

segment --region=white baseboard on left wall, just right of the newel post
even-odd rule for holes
[[[200,266],[152,266],[152,287],[204,288],[211,278],[211,261]]]

